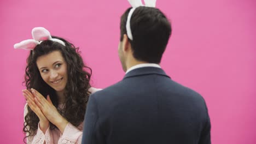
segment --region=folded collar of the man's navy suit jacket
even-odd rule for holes
[[[162,70],[161,68],[143,67],[143,68],[137,68],[130,71],[124,76],[124,79],[129,77],[134,77],[134,76],[151,75],[151,74],[157,74],[157,75],[162,75],[162,76],[171,78],[170,76],[166,75],[165,71]]]

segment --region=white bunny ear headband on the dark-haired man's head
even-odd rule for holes
[[[130,26],[130,21],[131,21],[131,16],[133,11],[137,7],[152,7],[155,8],[156,0],[144,0],[145,5],[142,4],[142,0],[128,0],[129,3],[132,6],[132,9],[130,10],[128,17],[127,17],[127,22],[126,22],[126,31],[127,31],[127,36],[130,40],[132,40],[132,33],[131,33],[131,26]]]

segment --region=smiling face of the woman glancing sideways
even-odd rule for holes
[[[63,92],[67,85],[67,63],[60,51],[53,51],[37,58],[42,79],[55,91]]]

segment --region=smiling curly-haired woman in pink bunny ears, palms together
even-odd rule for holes
[[[65,39],[51,37],[45,28],[32,30],[34,39],[15,44],[31,50],[22,90],[27,104],[24,129],[27,143],[81,143],[91,73],[84,68],[78,48]]]

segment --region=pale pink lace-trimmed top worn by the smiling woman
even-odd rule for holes
[[[100,90],[101,89],[93,88],[93,87],[89,89],[91,93],[94,93]],[[26,115],[27,115],[27,104],[25,105],[25,108],[24,108],[24,117]],[[28,144],[82,143],[83,126],[84,126],[84,122],[82,122],[78,127],[74,127],[74,125],[72,125],[71,123],[68,123],[65,130],[63,131],[63,134],[61,134],[61,131],[57,128],[53,130],[50,130],[50,128],[48,128],[44,134],[43,131],[40,130],[39,123],[38,123],[38,129],[37,129],[36,135],[29,136],[27,138],[27,143]]]

